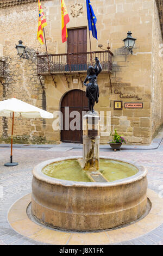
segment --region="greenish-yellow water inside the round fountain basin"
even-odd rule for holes
[[[129,163],[110,159],[100,159],[99,167],[99,173],[106,181],[128,178],[139,172],[139,169]],[[48,164],[42,169],[42,172],[55,179],[92,182],[88,175],[91,172],[83,170],[77,159]]]

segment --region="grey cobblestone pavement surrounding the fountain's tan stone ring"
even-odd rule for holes
[[[14,161],[18,166],[5,167],[9,162],[10,148],[0,148],[0,245],[43,245],[12,230],[7,214],[16,200],[31,192],[33,167],[48,159],[64,156],[82,156],[82,149],[67,152],[48,151],[45,148],[14,148]],[[156,150],[101,151],[101,156],[137,161],[148,169],[148,188],[163,197],[163,143]],[[3,193],[2,193],[3,192]],[[150,233],[117,245],[163,245],[163,224]]]

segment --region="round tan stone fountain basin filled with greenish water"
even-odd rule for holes
[[[105,182],[93,182],[78,159],[52,159],[34,168],[32,215],[37,220],[64,230],[93,231],[119,227],[145,214],[144,167],[103,157],[99,171]]]

